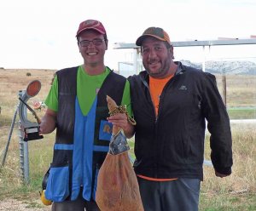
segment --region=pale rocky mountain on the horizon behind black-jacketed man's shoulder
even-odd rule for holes
[[[202,63],[190,62],[189,60],[181,60],[185,66],[193,66],[195,68],[202,68]],[[247,60],[226,60],[206,61],[206,71],[212,74],[235,74],[235,75],[256,75],[256,63]]]

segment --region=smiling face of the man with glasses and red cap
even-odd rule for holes
[[[88,43],[85,45],[84,43]],[[102,42],[101,42],[102,41]],[[79,52],[84,58],[84,66],[104,66],[104,54],[108,49],[108,40],[104,40],[104,36],[95,30],[83,31],[78,38]]]

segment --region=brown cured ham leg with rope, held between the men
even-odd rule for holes
[[[107,100],[110,115],[118,113],[119,106],[115,101],[109,96]],[[121,128],[113,126],[108,155],[97,178],[96,203],[102,211],[144,210],[137,177],[131,166],[128,151],[129,145],[125,134]]]

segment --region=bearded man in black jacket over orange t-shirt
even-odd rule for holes
[[[215,77],[173,61],[170,37],[149,27],[137,38],[143,66],[128,77],[135,133],[134,170],[145,211],[197,211],[203,180],[204,140],[211,133],[211,158],[218,177],[231,174],[230,119]],[[118,119],[119,117],[119,119]],[[124,122],[119,115],[109,122]]]

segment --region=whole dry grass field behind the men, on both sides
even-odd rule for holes
[[[27,76],[30,74],[31,76]],[[42,83],[40,93],[32,100],[44,100],[49,91],[54,71],[50,70],[0,70],[0,161],[7,144],[10,124],[18,104],[18,91],[34,79]],[[222,92],[221,77],[217,76]],[[255,118],[255,76],[227,77],[227,106],[231,118]],[[38,111],[42,117],[44,111]],[[19,117],[17,117],[18,120]],[[233,136],[234,166],[230,177],[215,177],[212,167],[204,166],[204,181],[201,183],[200,210],[256,210],[256,124],[231,124]],[[18,127],[9,145],[4,167],[0,167],[0,200],[15,198],[26,201],[32,208],[42,208],[38,202],[41,182],[52,159],[55,133],[44,135],[44,140],[29,142],[30,183],[24,184],[20,177],[20,149]],[[209,134],[206,136],[207,160],[210,158]],[[131,153],[133,140],[130,140]],[[1,210],[1,202],[0,202]]]

